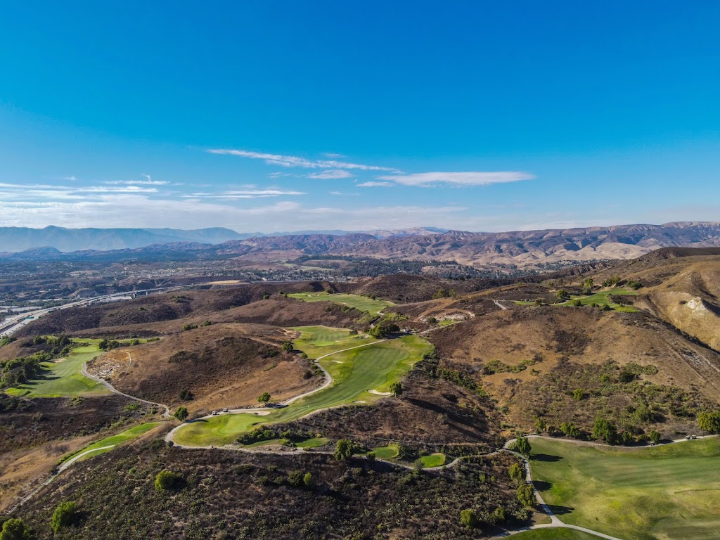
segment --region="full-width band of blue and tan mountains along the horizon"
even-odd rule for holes
[[[5,231],[34,231],[48,235],[30,240],[6,240]],[[521,267],[596,259],[635,258],[657,248],[720,247],[720,223],[673,222],[665,225],[617,225],[573,229],[468,233],[456,230],[435,232],[428,228],[343,234],[240,235],[228,229],[0,229],[0,246],[32,246],[21,253],[0,253],[12,259],[92,258],[108,261],[188,261],[216,258],[287,260],[298,256],[369,256],[407,260],[454,260],[484,266],[514,264]],[[388,234],[389,233],[389,234]],[[30,233],[27,233],[30,237]],[[230,238],[227,238],[230,236]],[[238,238],[240,237],[240,238]],[[22,235],[19,236],[22,239]],[[91,241],[107,245],[124,242],[120,249],[86,247],[73,253],[72,244]],[[161,240],[158,240],[160,238]],[[223,240],[226,238],[225,240]],[[42,241],[45,240],[43,244]],[[48,240],[53,240],[50,242]],[[153,242],[148,246],[146,242]],[[40,245],[38,245],[38,243]],[[135,243],[135,246],[127,245]],[[138,244],[140,244],[138,246]]]

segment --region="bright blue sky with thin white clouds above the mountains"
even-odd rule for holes
[[[720,220],[719,26],[716,1],[7,4],[0,226]]]

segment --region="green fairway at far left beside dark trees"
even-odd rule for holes
[[[79,395],[109,393],[106,387],[82,374],[83,364],[101,354],[99,339],[73,339],[87,343],[73,348],[66,358],[43,362],[46,371],[38,379],[6,390],[8,394],[22,397],[75,397]]]

